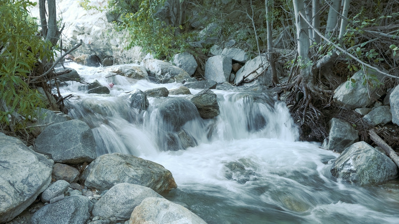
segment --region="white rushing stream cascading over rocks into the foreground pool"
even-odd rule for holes
[[[98,68],[70,66],[86,82],[115,83],[109,95],[86,94],[77,82],[60,89],[73,94],[69,115],[92,128],[98,155],[127,153],[163,165],[178,184],[164,196],[208,223],[399,223],[399,182],[357,187],[336,180],[329,170],[338,154],[297,141],[288,109],[267,94],[253,100],[243,89],[213,90],[220,115],[184,125],[198,145],[162,151],[156,100],[139,114],[128,92],[182,84],[105,78]]]

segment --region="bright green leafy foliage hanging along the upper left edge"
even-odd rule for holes
[[[1,124],[8,125],[8,115],[14,112],[33,117],[36,107],[43,106],[40,94],[28,81],[38,60],[53,58],[54,54],[46,50],[51,43],[36,35],[38,25],[27,13],[27,8],[35,4],[0,0],[0,102],[7,106],[0,111]]]

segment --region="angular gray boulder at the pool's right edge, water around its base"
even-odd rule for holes
[[[346,148],[333,163],[331,174],[353,184],[376,184],[397,177],[397,166],[385,153],[365,142]]]

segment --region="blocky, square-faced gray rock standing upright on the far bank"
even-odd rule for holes
[[[231,58],[226,56],[213,56],[205,64],[205,78],[217,83],[230,80]]]

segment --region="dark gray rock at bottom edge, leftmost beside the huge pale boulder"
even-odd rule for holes
[[[31,224],[85,224],[90,218],[91,202],[85,196],[69,196],[39,209]]]

